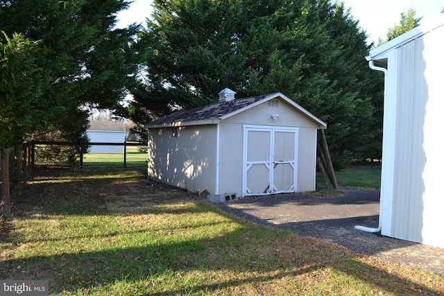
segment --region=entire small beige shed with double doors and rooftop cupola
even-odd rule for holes
[[[280,93],[234,94],[223,89],[218,103],[149,123],[148,176],[212,201],[314,191],[326,124]]]

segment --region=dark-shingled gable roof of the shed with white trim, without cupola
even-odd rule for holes
[[[217,103],[211,103],[201,107],[179,110],[160,119],[149,122],[147,127],[161,128],[171,125],[192,125],[199,123],[216,124],[219,122],[219,120],[225,119],[230,115],[237,114],[238,112],[246,110],[249,107],[253,107],[259,103],[263,103],[262,101],[269,101],[278,97],[284,99],[284,101],[287,101],[287,103],[293,105],[293,107],[296,107],[296,109],[300,110],[314,121],[317,121],[321,125],[325,125],[325,127],[327,126],[325,123],[323,123],[323,121],[317,119],[313,114],[291,101],[289,98],[287,98],[287,96],[284,96],[281,93],[273,93],[262,96],[252,96],[249,98],[236,98],[233,101],[219,101]]]

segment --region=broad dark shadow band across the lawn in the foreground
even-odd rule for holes
[[[182,229],[175,231],[180,232]],[[270,229],[260,227],[259,231],[271,232]],[[272,245],[268,246],[269,248],[256,243],[246,243],[245,239],[252,240],[252,236],[255,234],[244,228],[211,239],[186,240],[180,243],[164,242],[119,249],[110,247],[108,250],[97,252],[80,250],[75,254],[12,259],[1,263],[3,274],[1,277],[26,279],[31,270],[45,270],[43,273],[45,279],[48,277],[51,279],[51,293],[76,293],[79,290],[93,292],[97,288],[112,286],[117,281],[124,280],[126,283],[132,283],[130,286],[136,285],[139,292],[145,295],[182,295],[191,291],[216,293],[223,288],[234,291],[234,287],[244,284],[262,285],[264,281],[304,274],[312,277],[314,275],[311,275],[311,272],[332,268],[351,277],[352,281],[364,281],[371,288],[383,290],[384,293],[395,295],[409,293],[410,287],[420,289],[422,293],[434,293],[424,286],[418,286],[384,270],[366,265],[346,250],[332,250],[327,243],[316,243],[305,238],[304,243],[314,244],[311,253],[299,252],[298,247],[301,246],[294,241],[286,246],[293,249],[292,251],[268,253],[266,250],[273,250],[279,246],[275,246],[273,242],[267,242]],[[285,245],[285,242],[281,243]],[[262,247],[266,247],[266,252],[264,249],[261,251]],[[212,252],[221,249],[225,252]],[[223,276],[216,281],[210,279],[191,281],[188,282],[189,286],[184,286],[180,280],[173,279],[182,275],[182,272],[191,270],[209,274],[220,272]],[[5,272],[8,276],[5,276]],[[162,283],[167,281],[172,284],[168,285],[169,288],[162,288]],[[107,293],[106,288],[104,291]],[[287,292],[291,293],[291,290]]]

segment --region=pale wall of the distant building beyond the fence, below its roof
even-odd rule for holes
[[[125,131],[87,130],[89,141],[94,143],[124,143]],[[88,153],[123,153],[123,146],[92,145]]]

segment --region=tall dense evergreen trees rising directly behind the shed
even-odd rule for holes
[[[137,43],[144,68],[127,110],[134,121],[214,102],[223,73],[233,72],[228,87],[238,97],[282,92],[327,122],[336,167],[380,151],[374,93],[382,80],[343,4],[155,0],[153,8]]]

